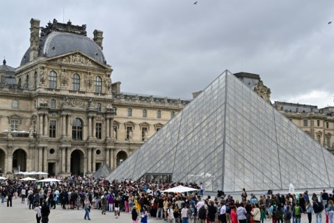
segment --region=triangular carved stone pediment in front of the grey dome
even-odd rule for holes
[[[81,52],[72,52],[68,54],[63,54],[61,56],[53,57],[47,61],[61,64],[68,64],[74,66],[87,66],[93,68],[106,68],[106,66],[101,63],[96,62],[94,59],[82,54]]]

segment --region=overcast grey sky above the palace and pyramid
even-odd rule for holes
[[[121,91],[192,98],[224,70],[260,75],[271,102],[334,106],[332,0],[17,0],[1,4],[0,58],[17,68],[30,20],[102,30]],[[333,20],[333,24],[328,24]]]

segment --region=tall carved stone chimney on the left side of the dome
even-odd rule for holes
[[[38,57],[40,47],[40,20],[30,20],[30,61]]]

